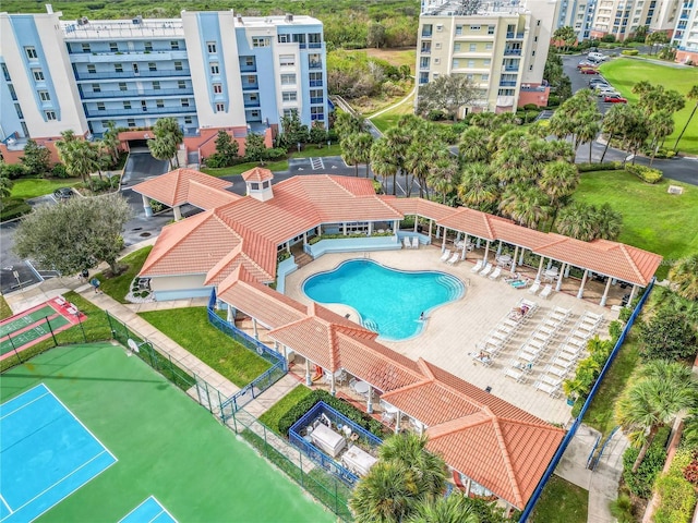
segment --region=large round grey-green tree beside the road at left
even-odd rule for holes
[[[100,262],[119,272],[121,231],[131,218],[129,203],[119,194],[71,198],[61,205],[39,206],[20,222],[15,253],[40,267],[72,275]]]

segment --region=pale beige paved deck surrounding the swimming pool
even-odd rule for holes
[[[571,419],[571,408],[565,402],[564,394],[551,398],[549,394],[535,390],[533,384],[542,374],[554,354],[556,346],[569,333],[571,326],[586,311],[603,314],[606,318],[598,330],[601,338],[607,338],[607,323],[616,319],[618,313],[609,308],[618,304],[626,291],[612,287],[607,306],[598,305],[603,292],[603,284],[594,281],[585,285],[585,300],[576,297],[579,281],[565,279],[561,292],[553,292],[545,300],[535,296],[526,289],[514,289],[502,279],[493,281],[486,277],[470,271],[482,252],[468,253],[468,259],[448,265],[440,260],[441,248],[421,245],[419,250],[384,251],[371,253],[326,254],[313,263],[289,275],[286,279],[286,294],[301,303],[310,303],[301,290],[303,281],[320,271],[332,270],[341,262],[354,258],[370,258],[388,267],[401,270],[440,270],[458,277],[466,284],[466,293],[460,300],[443,305],[430,314],[422,332],[405,341],[384,341],[386,346],[412,358],[424,360],[438,365],[454,375],[482,388],[491,387],[492,393],[552,423],[566,424]],[[534,278],[535,271],[530,268],[518,269]],[[534,316],[504,345],[502,352],[494,358],[490,367],[477,363],[470,353],[477,351],[476,344],[485,338],[497,323],[505,317],[521,299],[533,301],[540,308]],[[358,321],[354,311],[346,305],[327,305],[328,308]],[[517,350],[535,329],[546,314],[555,306],[573,311],[570,321],[563,328],[557,341],[551,344],[547,355],[533,366],[525,382],[517,382],[504,376],[509,368],[509,361]]]

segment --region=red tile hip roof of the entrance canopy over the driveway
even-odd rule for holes
[[[170,207],[174,207],[177,205],[182,205],[185,203],[190,203],[200,207],[204,210],[210,210],[214,207],[203,207],[205,205],[205,198],[202,198],[200,202],[202,205],[196,205],[194,202],[190,200],[190,182],[198,182],[198,186],[195,190],[195,197],[201,197],[202,188],[204,185],[209,187],[209,190],[219,190],[222,191],[232,186],[231,182],[227,180],[220,180],[218,178],[209,177],[208,174],[204,174],[203,172],[196,171],[194,169],[174,169],[173,171],[166,172],[165,174],[160,174],[159,177],[153,178],[151,180],[146,180],[145,182],[141,182],[133,187],[131,187],[134,192],[139,194],[144,194],[145,196],[156,199],[165,205]],[[215,191],[210,191],[212,194]],[[230,194],[230,199],[238,199],[240,196],[233,193]],[[220,205],[220,195],[214,197],[212,203],[216,204],[216,206]]]

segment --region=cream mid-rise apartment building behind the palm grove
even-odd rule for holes
[[[424,0],[417,47],[418,89],[441,75],[465,74],[483,96],[464,113],[545,106],[550,89],[543,69],[558,7],[557,0],[507,4]]]

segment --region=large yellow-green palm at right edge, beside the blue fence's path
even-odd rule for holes
[[[684,368],[682,368],[684,367]],[[698,404],[698,381],[678,362],[654,361],[647,365],[616,403],[616,422],[630,442],[640,447],[633,464],[636,473],[661,427],[676,414]]]

